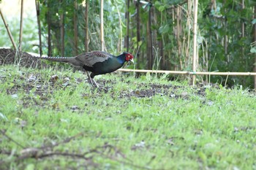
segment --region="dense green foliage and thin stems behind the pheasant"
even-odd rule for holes
[[[86,27],[89,28],[89,50],[101,49],[100,1],[88,2],[88,26],[85,22],[86,1],[39,2],[44,52],[47,53],[49,45],[53,49],[52,55],[61,55],[61,48],[67,56],[84,52]],[[255,5],[256,2],[252,0],[199,1],[197,71],[253,72],[256,52],[253,43],[256,34],[253,30],[256,23],[256,19],[253,19]],[[135,54],[135,67],[138,69],[191,71],[193,15],[192,0],[104,1],[105,50],[113,54],[124,50]],[[26,28],[35,28],[35,23]],[[61,45],[61,39],[64,39],[64,45]],[[208,82],[208,77],[197,78]],[[225,78],[211,77],[211,82],[222,83]],[[230,85],[250,87],[253,82],[252,77],[227,77],[227,80]]]

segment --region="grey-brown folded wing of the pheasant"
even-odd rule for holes
[[[109,53],[105,53],[102,51],[92,51],[89,53],[83,53],[75,57],[80,63],[83,65],[92,67],[94,63],[103,62],[108,60],[108,58],[112,58],[113,55]]]

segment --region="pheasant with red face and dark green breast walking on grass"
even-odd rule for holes
[[[122,53],[121,55],[115,56],[103,51],[91,51],[75,57],[42,57],[42,59],[70,63],[75,67],[80,67],[91,72],[90,76],[86,73],[89,76],[91,84],[94,84],[97,88],[99,85],[94,80],[95,76],[115,72],[126,61],[132,61],[133,63],[133,55],[130,53]]]

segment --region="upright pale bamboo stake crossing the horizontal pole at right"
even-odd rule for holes
[[[194,41],[193,41],[193,72],[197,71],[197,6],[198,0],[194,3]],[[195,74],[192,76],[192,85],[195,85]]]

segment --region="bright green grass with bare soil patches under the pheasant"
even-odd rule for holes
[[[256,169],[255,92],[96,80],[100,89],[81,72],[1,66],[0,169]],[[89,153],[38,158],[47,152]]]

